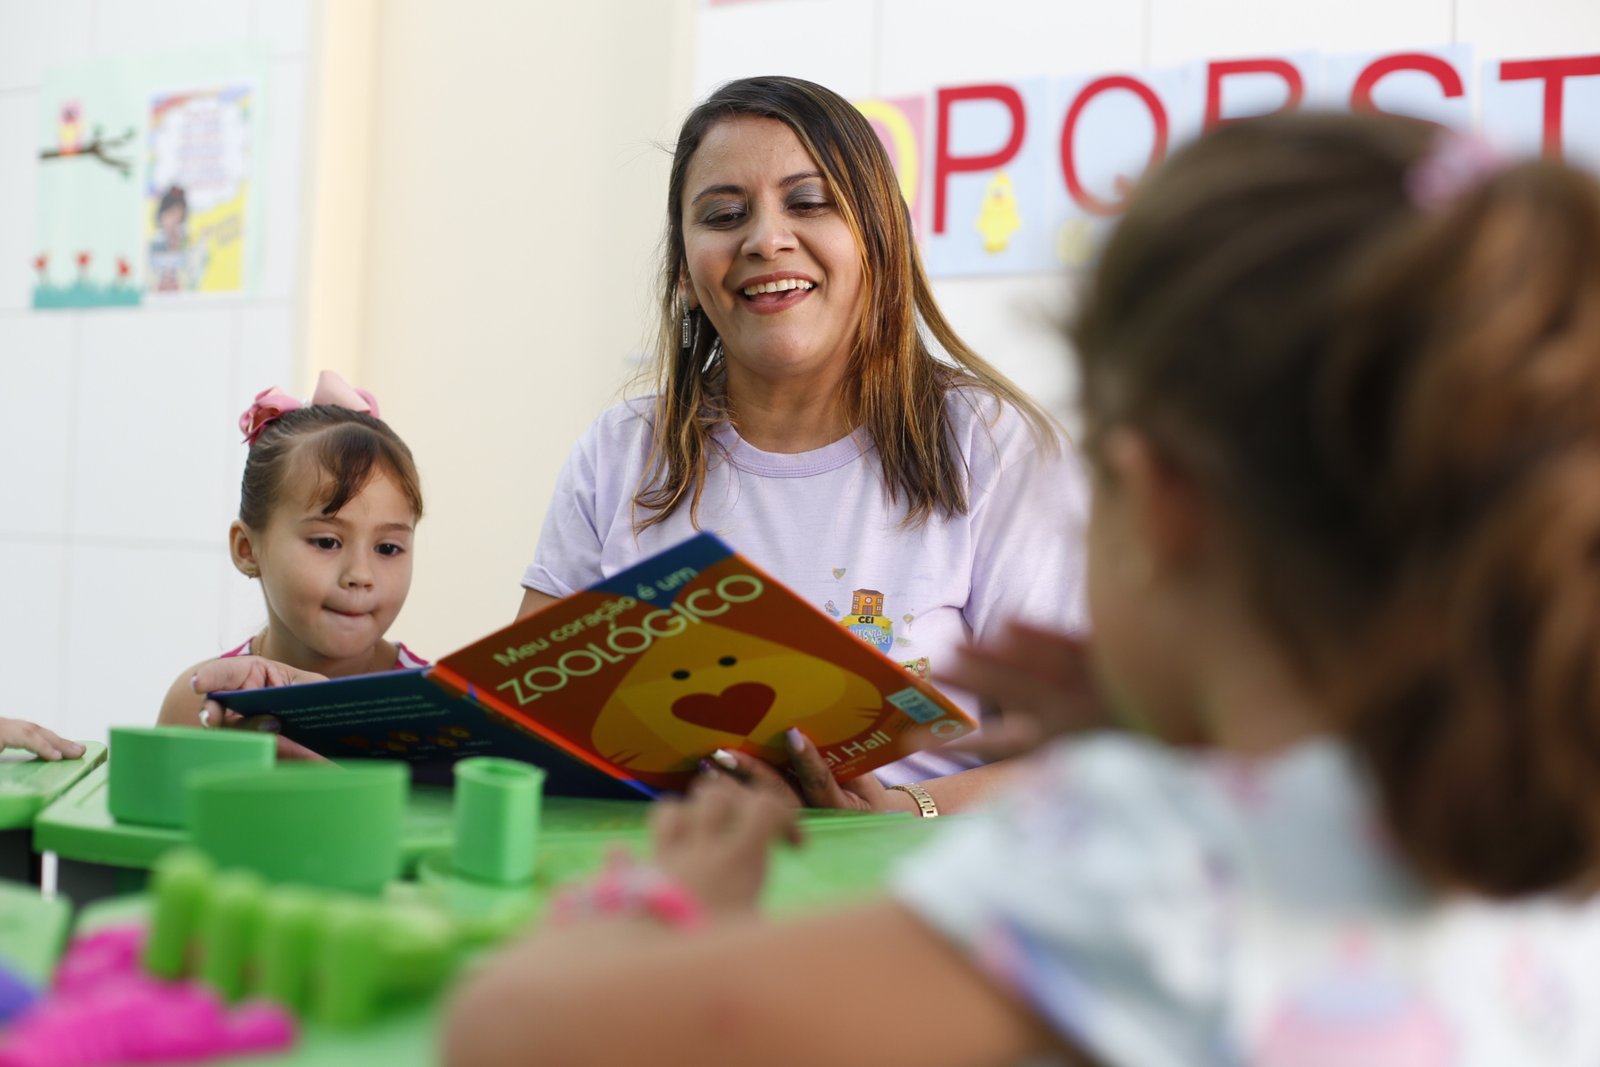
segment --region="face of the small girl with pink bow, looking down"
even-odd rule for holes
[[[266,645],[274,659],[306,670],[382,670],[392,664],[368,661],[411,589],[416,518],[382,470],[323,515],[320,475],[293,464],[267,528],[245,531],[267,598]]]

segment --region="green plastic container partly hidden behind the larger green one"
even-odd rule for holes
[[[197,769],[262,771],[277,758],[277,739],[243,729],[112,726],[106,806],[117,822],[189,825],[184,781]]]

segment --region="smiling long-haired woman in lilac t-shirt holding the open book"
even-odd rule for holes
[[[522,613],[712,530],[922,675],[1013,617],[1080,627],[1072,450],[939,312],[867,120],[811,82],[731,82],[685,120],[666,208],[654,395],[573,450]],[[946,776],[973,765],[880,777],[949,809],[979,779]],[[808,803],[928,813],[824,777]]]

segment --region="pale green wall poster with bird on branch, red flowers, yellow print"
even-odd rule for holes
[[[261,261],[266,58],[107,58],[46,75],[34,307],[248,294]]]

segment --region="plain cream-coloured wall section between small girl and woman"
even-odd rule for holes
[[[560,462],[646,344],[693,0],[357,6],[370,74],[360,16],[322,27],[302,366],[347,368],[416,453],[392,633],[440,656],[515,614]]]

